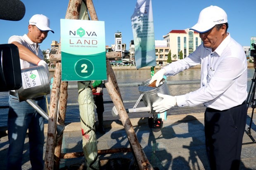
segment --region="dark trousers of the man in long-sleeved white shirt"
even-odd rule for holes
[[[204,118],[211,170],[238,170],[247,119],[246,102],[223,111],[207,108]]]

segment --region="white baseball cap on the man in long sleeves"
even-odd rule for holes
[[[198,33],[206,33],[215,25],[227,22],[228,16],[226,12],[220,7],[211,5],[200,12],[197,24],[190,28],[190,30]]]

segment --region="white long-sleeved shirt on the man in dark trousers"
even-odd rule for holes
[[[240,44],[228,36],[215,51],[201,44],[183,60],[175,61],[166,75],[175,75],[201,64],[201,87],[185,95],[176,96],[177,105],[225,110],[242,104],[247,98],[247,59]]]

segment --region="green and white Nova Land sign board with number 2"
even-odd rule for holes
[[[61,19],[62,81],[106,80],[104,21]]]

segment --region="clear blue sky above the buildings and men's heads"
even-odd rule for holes
[[[6,44],[12,35],[28,32],[28,21],[34,14],[44,14],[50,19],[48,37],[40,49],[50,49],[52,40],[60,40],[60,19],[64,19],[69,0],[21,0],[26,14],[21,21],[0,20],[0,44]],[[106,45],[114,44],[114,33],[120,31],[123,43],[129,49],[133,40],[130,16],[137,0],[92,0],[99,21],[105,21]],[[250,46],[250,38],[256,36],[255,0],[152,0],[155,40],[163,40],[171,30],[184,30],[197,23],[199,13],[205,7],[217,5],[228,14],[228,31],[242,46]]]

